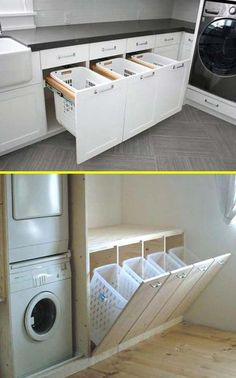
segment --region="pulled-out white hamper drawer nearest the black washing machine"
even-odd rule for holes
[[[132,55],[131,60],[156,72],[155,122],[179,112],[183,106],[190,60],[177,62],[154,53]]]

